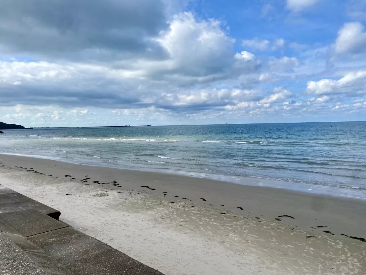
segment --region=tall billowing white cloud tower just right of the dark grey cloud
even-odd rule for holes
[[[157,39],[171,59],[161,65],[194,76],[222,72],[234,60],[235,39],[220,27],[214,19],[196,21],[191,12],[175,15]]]

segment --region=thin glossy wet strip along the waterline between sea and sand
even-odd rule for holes
[[[43,155],[25,155],[25,154],[16,154],[16,153],[0,153],[1,155],[9,155],[15,157],[26,157],[26,158],[37,158],[37,159],[48,159],[52,161],[59,161],[68,164],[79,165],[78,161],[72,161],[71,159],[57,159],[52,157],[47,157]],[[333,197],[342,197],[342,198],[352,198],[366,201],[366,190],[363,188],[354,188],[354,187],[335,187],[329,185],[322,184],[313,184],[313,183],[301,183],[295,181],[283,181],[283,180],[275,180],[275,179],[267,179],[264,177],[254,177],[254,176],[235,176],[229,174],[220,174],[216,172],[205,172],[202,170],[191,169],[190,171],[181,170],[181,169],[172,169],[169,168],[149,168],[142,166],[133,166],[129,164],[125,165],[101,165],[98,163],[88,163],[83,162],[83,165],[87,166],[95,166],[95,167],[103,167],[103,168],[111,168],[111,169],[120,169],[120,170],[132,170],[132,171],[141,171],[141,172],[149,172],[149,173],[162,173],[167,175],[178,175],[178,176],[186,176],[193,178],[203,178],[208,180],[221,181],[223,183],[230,184],[239,184],[245,186],[254,186],[254,187],[268,187],[268,188],[278,188],[288,191],[294,192],[305,192],[308,194],[315,195],[325,195],[325,196],[333,196]]]

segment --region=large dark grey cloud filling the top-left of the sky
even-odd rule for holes
[[[2,0],[0,51],[74,60],[162,55],[149,38],[167,27],[161,0]]]

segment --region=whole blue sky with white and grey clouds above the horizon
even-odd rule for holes
[[[2,0],[0,121],[366,120],[366,0]]]

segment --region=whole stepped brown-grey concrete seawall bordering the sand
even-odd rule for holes
[[[0,185],[0,239],[10,240],[22,250],[18,257],[27,257],[45,274],[163,275],[59,221],[60,214],[56,209]],[[0,268],[8,268],[8,274],[32,274],[11,270],[19,269],[16,265],[3,264]]]

